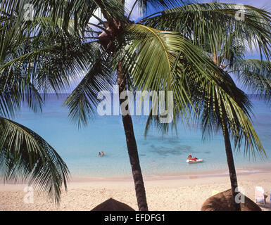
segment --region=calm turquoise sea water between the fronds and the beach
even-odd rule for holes
[[[51,95],[43,113],[32,113],[23,108],[15,121],[37,132],[57,150],[65,160],[73,176],[130,176],[125,133],[120,116],[99,116],[87,127],[77,129],[68,119],[68,109],[63,107],[66,95],[56,98]],[[260,136],[267,159],[254,162],[244,153],[234,153],[237,169],[271,167],[271,110],[263,102],[252,100],[254,105],[254,127]],[[161,136],[152,129],[144,138],[146,117],[133,117],[141,169],[145,176],[169,174],[193,174],[227,170],[224,141],[221,135],[211,141],[201,141],[201,131],[189,130],[179,125],[178,136]],[[97,153],[103,150],[105,157]],[[205,162],[188,165],[185,161],[191,153]]]

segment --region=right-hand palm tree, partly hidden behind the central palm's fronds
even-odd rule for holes
[[[244,20],[240,19],[239,13],[243,13]],[[246,89],[252,91],[258,98],[270,102],[270,15],[270,12],[252,6],[240,7],[236,4],[222,3],[191,4],[162,11],[157,17],[148,18],[145,24],[156,29],[182,32],[185,37],[190,37],[194,44],[201,46],[210,60],[213,60],[222,70],[236,75],[236,79],[244,84]],[[246,59],[246,49],[250,48],[252,51],[253,47],[260,51],[260,60]],[[203,97],[202,101],[205,98],[203,89],[198,91],[198,94]],[[194,101],[197,102],[197,99]],[[229,132],[237,149],[241,147],[241,139],[244,137],[246,153],[252,150],[255,157],[255,150],[263,154],[265,152],[250,122],[244,120],[237,111],[234,112],[229,99],[223,99],[218,95],[215,101],[206,98],[205,102],[201,102],[203,110],[200,111],[198,108],[198,115],[202,115],[203,134],[208,131],[210,135],[212,131],[222,128],[233,203],[235,209],[240,210],[240,205],[234,200],[238,194],[238,184]],[[246,100],[246,108],[248,111],[251,108],[248,100]],[[244,112],[248,113],[248,111]],[[234,117],[229,118],[230,114]],[[247,134],[246,131],[251,134]]]

